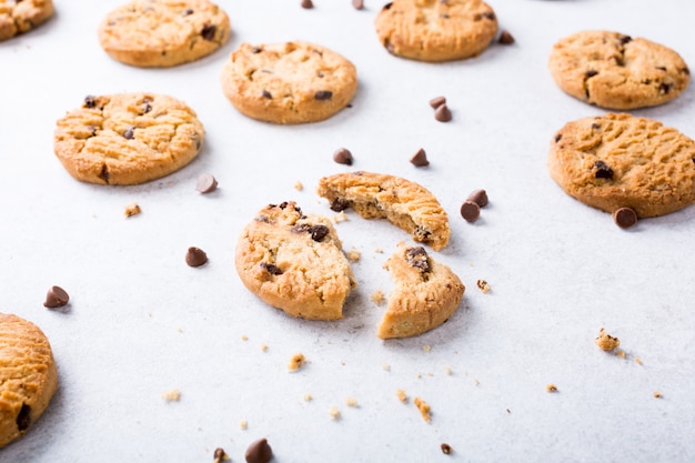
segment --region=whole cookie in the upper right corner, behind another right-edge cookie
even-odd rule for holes
[[[691,71],[672,49],[610,31],[582,31],[561,39],[548,67],[563,91],[613,110],[666,103],[691,81]]]

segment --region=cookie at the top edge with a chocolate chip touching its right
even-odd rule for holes
[[[481,0],[394,0],[374,21],[392,54],[419,61],[479,56],[497,33],[497,18]]]

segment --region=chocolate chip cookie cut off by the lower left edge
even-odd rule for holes
[[[27,433],[57,389],[58,370],[41,329],[0,313],[0,447]]]

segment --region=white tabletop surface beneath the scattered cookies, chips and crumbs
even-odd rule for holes
[[[491,0],[516,43],[427,64],[380,46],[373,19],[383,2],[356,11],[348,0],[314,0],[313,10],[299,0],[220,1],[229,43],[164,70],[130,68],[100,49],[98,23],[120,3],[59,0],[50,22],[0,43],[0,310],[46,332],[60,375],[44,415],[0,450],[1,462],[211,462],[218,446],[240,462],[263,436],[278,462],[695,460],[695,208],[624,231],[565,195],[545,165],[557,129],[604,112],[555,87],[553,43],[616,30],[672,47],[693,67],[693,3]],[[219,84],[230,52],[242,41],[294,39],[355,63],[352,108],[301,127],[241,115]],[[87,94],[131,91],[189,103],[205,125],[202,153],[144,185],[73,180],[52,152],[56,120]],[[441,94],[450,123],[427,104]],[[634,113],[692,138],[694,100],[691,85]],[[351,168],[332,160],[341,147]],[[409,162],[420,148],[426,169]],[[370,294],[391,290],[382,264],[409,236],[353,212],[338,224],[345,249],[362,252],[344,320],[293,320],[243,288],[233,256],[245,223],[285,200],[333,217],[315,185],[349,170],[416,181],[450,213],[451,243],[434,255],[466,292],[440,329],[375,336],[384,306]],[[194,190],[203,172],[220,182],[213,194]],[[490,205],[470,224],[459,207],[477,188]],[[124,219],[132,201],[143,212]],[[208,252],[205,266],[184,263],[190,245]],[[64,311],[42,305],[53,284],[71,295]],[[602,326],[621,339],[625,360],[594,345]],[[288,373],[296,352],[309,364]],[[181,400],[167,403],[161,395],[174,387]],[[414,396],[432,406],[430,424]],[[454,453],[441,452],[444,442]]]

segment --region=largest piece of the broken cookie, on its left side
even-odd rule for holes
[[[236,272],[268,304],[308,320],[338,320],[356,285],[331,222],[294,202],[270,204],[236,244]]]

